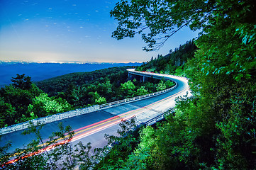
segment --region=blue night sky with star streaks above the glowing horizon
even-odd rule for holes
[[[165,46],[145,52],[140,35],[116,40],[109,12],[118,0],[0,0],[0,60],[147,62],[197,33],[180,30]]]

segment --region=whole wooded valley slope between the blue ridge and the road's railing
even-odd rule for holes
[[[57,94],[57,97],[65,99],[74,108],[118,101],[156,91],[155,83],[158,81],[129,81],[127,68],[129,67],[113,67],[94,72],[66,74],[39,81],[37,84],[49,96]]]

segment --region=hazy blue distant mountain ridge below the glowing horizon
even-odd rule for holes
[[[92,72],[98,69],[122,66],[140,66],[141,63],[112,63],[112,62],[23,62],[0,61],[0,86],[11,84],[11,78],[16,74],[26,74],[33,81],[41,81],[52,77],[73,72]]]

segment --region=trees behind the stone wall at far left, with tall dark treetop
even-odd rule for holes
[[[24,74],[17,74],[13,84],[1,88],[0,106],[1,128],[73,109],[65,99],[48,97]]]

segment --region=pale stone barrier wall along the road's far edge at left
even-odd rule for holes
[[[42,123],[42,124],[51,123],[51,122],[55,122],[57,120],[62,120],[65,118],[72,118],[77,115],[84,115],[86,113],[91,113],[94,111],[99,111],[99,105],[91,106],[88,108],[79,108],[74,111],[68,111],[68,112],[64,112],[64,113],[57,113],[55,115],[48,115],[47,117],[44,117],[44,118],[30,120],[30,122],[32,122],[33,125],[36,125],[38,123]],[[28,128],[28,125],[29,125],[29,121],[25,122],[25,123],[19,123],[16,125],[11,125],[6,128],[2,128],[2,129],[0,129],[0,135],[4,135],[6,133],[14,132],[17,130],[26,129],[26,128]]]

